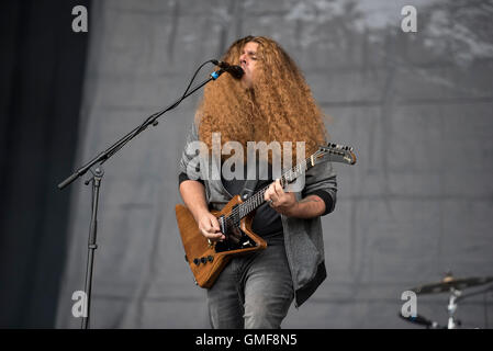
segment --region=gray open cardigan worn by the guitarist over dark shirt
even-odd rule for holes
[[[204,180],[206,202],[211,210],[219,211],[229,202],[231,196],[224,189],[221,179],[211,179],[211,177],[203,174],[203,168],[200,167],[201,161],[198,156],[198,144],[193,143],[198,140],[197,126],[195,123],[192,123],[187,135],[183,154],[178,163],[178,170],[180,173],[186,173],[189,179]],[[216,171],[220,172],[221,170],[216,169]],[[302,192],[295,193],[296,200],[301,200],[306,194],[317,190],[323,190],[332,196],[333,207],[326,213],[334,211],[337,182],[330,162],[315,165],[306,171],[305,186]],[[294,305],[298,308],[327,276],[322,224],[320,217],[302,219],[281,215],[281,220],[285,253],[293,280]]]

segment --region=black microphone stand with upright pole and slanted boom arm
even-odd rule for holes
[[[105,149],[104,151],[102,151],[98,156],[96,156],[92,160],[90,160],[86,165],[81,166],[71,176],[67,177],[63,182],[60,182],[57,185],[57,188],[59,190],[66,188],[67,185],[71,184],[76,179],[86,174],[86,172],[88,170],[90,170],[96,163],[99,163],[101,166],[102,163],[108,161],[126,143],[128,143],[134,137],[136,137],[138,134],[141,134],[143,131],[145,131],[149,125],[156,126],[158,124],[157,118],[159,118],[163,114],[177,107],[181,103],[181,101],[183,101],[186,98],[193,94],[197,90],[199,90],[200,88],[202,88],[203,86],[209,83],[211,80],[216,80],[224,72],[225,72],[225,70],[223,70],[223,69],[213,71],[208,79],[205,79],[204,81],[199,83],[191,91],[188,91],[188,89],[187,89],[186,93],[181,98],[179,98],[176,102],[170,104],[165,110],[156,112],[156,113],[152,114],[150,116],[148,116],[143,124],[141,124],[138,127],[134,128],[133,131],[131,131],[130,133],[127,133],[126,135],[121,137],[108,149]],[[195,75],[197,75],[197,72],[195,72]],[[193,78],[192,78],[192,81],[193,81]],[[189,86],[189,88],[190,88],[190,86]],[[85,301],[85,304],[82,305],[85,307],[83,309],[86,313],[82,315],[81,329],[89,328],[91,291],[92,291],[92,269],[93,269],[93,263],[94,263],[94,250],[98,248],[96,238],[97,238],[97,231],[98,231],[99,190],[101,186],[101,181],[102,181],[103,174],[104,174],[104,171],[102,170],[102,168],[98,167],[93,172],[93,177],[90,180],[86,181],[86,185],[88,185],[92,181],[92,204],[91,204],[91,222],[89,225],[88,261],[87,261],[87,268],[86,268],[86,284],[85,284],[86,301]]]

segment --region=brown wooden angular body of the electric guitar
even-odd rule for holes
[[[211,211],[211,213],[217,218],[228,217],[240,203],[240,196],[236,195],[223,210]],[[233,256],[267,248],[267,242],[251,231],[255,213],[242,218],[236,228],[223,231],[226,236],[223,242],[211,246],[184,205],[176,205],[175,211],[186,260],[192,270],[195,283],[201,287],[211,287]]]

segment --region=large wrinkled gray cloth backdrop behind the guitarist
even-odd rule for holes
[[[417,33],[401,30],[404,4],[417,9]],[[235,38],[271,36],[333,117],[333,140],[358,155],[354,167],[335,165],[338,202],[323,218],[328,280],[283,327],[413,328],[397,317],[403,291],[448,270],[493,275],[492,9],[491,1],[94,1],[75,166],[168,105],[198,65]],[[176,162],[199,99],[104,166],[92,327],[209,327],[173,208]],[[61,328],[80,322],[70,297],[83,288],[90,214],[90,186],[72,186]],[[463,326],[491,327],[492,299],[464,299]],[[423,295],[417,312],[445,324],[446,302]]]

